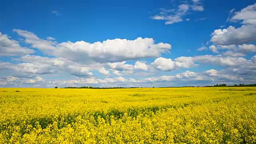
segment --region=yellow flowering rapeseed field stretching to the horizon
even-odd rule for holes
[[[3,143],[255,144],[256,88],[0,88]]]

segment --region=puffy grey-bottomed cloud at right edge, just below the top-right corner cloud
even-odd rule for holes
[[[241,26],[235,28],[229,26],[227,29],[214,30],[211,42],[216,45],[233,45],[253,42],[256,39],[256,28],[253,26]]]

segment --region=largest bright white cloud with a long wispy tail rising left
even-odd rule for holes
[[[155,44],[152,38],[137,38],[135,40],[116,38],[94,43],[84,41],[57,43],[52,40],[40,39],[34,33],[25,30],[14,29],[14,32],[26,38],[27,44],[31,44],[33,48],[38,48],[48,55],[87,64],[155,58],[171,49],[170,44],[161,42]]]

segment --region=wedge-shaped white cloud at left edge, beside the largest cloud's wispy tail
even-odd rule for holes
[[[0,56],[20,56],[32,54],[34,50],[23,48],[16,40],[10,40],[10,37],[0,32]]]

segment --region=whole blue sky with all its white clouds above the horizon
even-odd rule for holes
[[[0,87],[256,82],[252,0],[10,0],[0,32]]]

